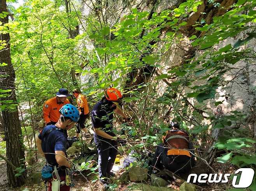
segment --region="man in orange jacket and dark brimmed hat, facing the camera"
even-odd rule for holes
[[[67,97],[70,96],[66,88],[60,88],[56,97],[47,100],[44,103],[44,122],[48,125],[55,125],[60,118],[60,108],[70,103]]]

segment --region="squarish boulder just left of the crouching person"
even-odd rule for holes
[[[129,170],[129,177],[131,182],[140,182],[147,180],[147,169],[133,166]]]

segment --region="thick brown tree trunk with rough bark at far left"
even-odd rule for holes
[[[3,11],[7,12],[6,0],[0,1],[0,13]],[[0,19],[2,25],[8,23],[8,16],[4,19]],[[12,100],[12,103],[2,103],[6,104],[7,108],[2,111],[3,125],[5,131],[6,140],[6,156],[7,159],[15,166],[25,168],[25,155],[22,144],[21,137],[21,125],[19,122],[18,107],[13,105],[16,102],[15,95],[15,71],[11,62],[11,52],[10,52],[10,35],[9,33],[0,34],[0,40],[4,41],[7,45],[0,50],[0,64],[5,63],[7,65],[0,67],[0,89],[10,89],[7,92],[7,96],[1,98],[1,102],[5,100]],[[12,104],[12,108],[8,107]],[[23,172],[21,176],[16,177],[16,169],[13,169],[13,165],[7,163],[7,174],[8,181],[11,187],[21,186],[25,183],[26,173]]]

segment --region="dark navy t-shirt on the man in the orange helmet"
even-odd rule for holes
[[[101,128],[104,132],[111,132],[113,130],[112,120],[114,118],[114,110],[116,106],[112,107],[114,103],[102,98],[91,111],[91,122],[94,128]]]

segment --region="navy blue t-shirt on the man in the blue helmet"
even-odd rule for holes
[[[49,125],[44,127],[43,131],[39,133],[38,138],[42,140],[42,150],[44,153],[53,153],[45,154],[47,162],[51,165],[58,165],[55,159],[55,151],[66,152],[67,131],[55,125]]]

